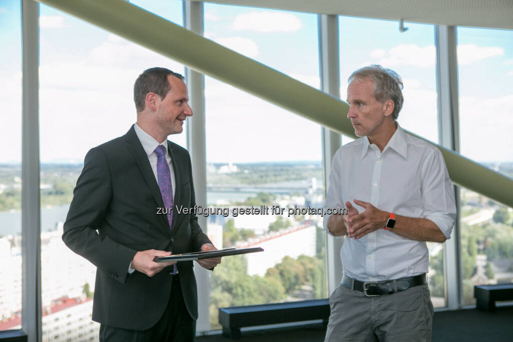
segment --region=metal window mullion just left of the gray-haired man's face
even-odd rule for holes
[[[339,17],[337,15],[318,15],[319,33],[319,73],[321,90],[340,97],[340,60],[339,60]],[[341,113],[341,115],[343,115]],[[342,144],[339,133],[321,128],[323,181],[326,191],[329,186],[331,159]],[[342,279],[342,262],[340,249],[343,238],[335,238],[325,233],[326,238],[326,274],[328,278],[328,294],[331,294]]]

